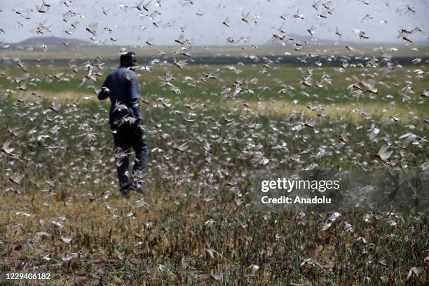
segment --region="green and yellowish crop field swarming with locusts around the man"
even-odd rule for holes
[[[0,271],[57,285],[427,282],[427,210],[266,212],[250,196],[259,170],[427,172],[424,58],[139,62],[149,173],[127,199],[96,95],[115,58],[48,55],[0,65]]]

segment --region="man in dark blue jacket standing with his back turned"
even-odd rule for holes
[[[140,90],[135,53],[123,53],[121,65],[107,76],[99,100],[110,98],[109,124],[115,142],[115,158],[121,193],[128,196],[130,189],[143,193],[142,178],[147,172],[148,151],[140,111]],[[129,176],[128,155],[135,151],[132,177]],[[129,178],[130,177],[130,178]]]

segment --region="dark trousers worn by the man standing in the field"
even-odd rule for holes
[[[120,187],[128,185],[128,177],[125,172],[128,171],[130,149],[135,151],[135,161],[133,174],[137,177],[145,175],[147,172],[148,150],[146,144],[146,134],[136,134],[135,125],[125,123],[119,128],[115,128],[117,132],[113,133],[115,149],[116,149],[116,167]]]

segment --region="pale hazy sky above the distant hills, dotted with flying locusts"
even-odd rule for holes
[[[41,11],[46,13],[39,13],[37,7],[41,7],[42,0],[1,0],[0,29],[4,33],[0,30],[0,41],[16,43],[32,36],[60,36],[124,46],[146,46],[145,42],[149,40],[153,45],[161,46],[176,45],[175,39],[182,35],[182,39],[188,39],[196,46],[231,44],[227,39],[260,45],[270,43],[280,27],[286,35],[311,36],[310,29],[314,38],[360,43],[404,43],[403,39],[397,39],[398,31],[415,27],[422,32],[406,35],[414,43],[428,43],[429,36],[429,1],[425,0],[142,1],[142,4],[149,2],[149,11],[142,7],[142,11],[137,10],[140,1],[45,2],[51,7],[47,11],[43,7]],[[313,8],[315,3],[318,10]],[[327,4],[330,13],[322,4]],[[67,11],[74,15],[65,22]],[[297,14],[301,16],[294,17]],[[247,22],[242,20],[245,15]],[[222,24],[226,18],[229,27]],[[37,34],[40,24],[39,32],[43,34]],[[76,29],[71,27],[72,24]],[[87,27],[95,32],[95,36],[87,31]],[[337,27],[341,36],[335,34]],[[359,30],[369,39],[361,39]],[[244,39],[239,41],[241,37]]]

